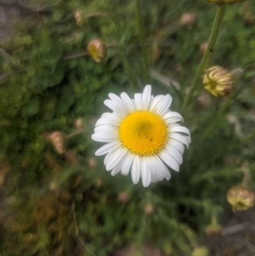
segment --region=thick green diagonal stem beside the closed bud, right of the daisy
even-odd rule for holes
[[[217,36],[219,34],[219,29],[221,27],[221,23],[222,23],[222,20],[224,17],[225,10],[226,10],[226,4],[217,6],[217,11],[216,11],[215,19],[214,19],[214,25],[212,27],[212,33],[210,35],[208,47],[207,47],[207,50],[205,51],[203,59],[201,60],[200,66],[196,72],[193,82],[191,83],[191,89],[189,90],[189,93],[186,95],[184,104],[182,105],[182,112],[186,109],[189,101],[191,100],[191,97],[194,94],[196,86],[198,85],[198,82],[201,79],[201,75],[205,71],[205,68],[207,68],[207,64],[210,60],[210,57],[212,56],[212,52],[214,50],[214,45],[217,40]]]

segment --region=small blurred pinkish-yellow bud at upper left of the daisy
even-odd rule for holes
[[[94,39],[87,45],[89,54],[92,59],[96,62],[101,62],[106,57],[106,46],[105,43],[99,39]]]

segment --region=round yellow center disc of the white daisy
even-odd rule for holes
[[[164,147],[168,139],[167,125],[157,114],[148,111],[127,116],[119,128],[122,144],[135,154],[149,156]]]

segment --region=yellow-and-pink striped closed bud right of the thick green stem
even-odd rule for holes
[[[233,87],[231,73],[221,66],[213,66],[205,70],[203,75],[205,89],[215,97],[224,97],[230,94]]]

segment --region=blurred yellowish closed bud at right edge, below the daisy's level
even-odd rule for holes
[[[233,210],[245,211],[255,204],[254,192],[247,188],[230,188],[227,193],[227,200],[233,206]]]

